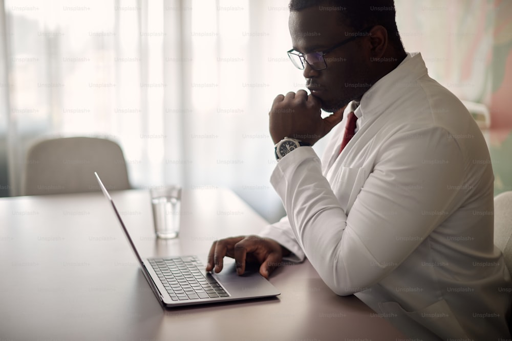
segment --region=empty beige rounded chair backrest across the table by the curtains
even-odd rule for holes
[[[84,137],[44,140],[27,153],[23,195],[99,191],[94,172],[109,190],[130,189],[123,152],[114,141]]]

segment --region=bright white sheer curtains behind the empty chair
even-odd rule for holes
[[[304,88],[287,5],[4,0],[0,190],[19,195],[34,141],[99,135],[121,145],[134,187],[228,187],[279,219],[267,113]]]

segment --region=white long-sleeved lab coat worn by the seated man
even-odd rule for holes
[[[470,113],[408,54],[345,119],[322,161],[286,155],[271,184],[287,217],[261,233],[307,257],[337,294],[355,294],[423,340],[510,338],[510,275],[493,243],[493,181]]]

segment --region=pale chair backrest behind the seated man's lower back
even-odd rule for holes
[[[500,248],[512,273],[512,191],[494,198],[494,244]]]

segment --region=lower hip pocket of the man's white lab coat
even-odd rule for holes
[[[416,311],[407,311],[396,302],[379,303],[379,308],[398,329],[415,337],[419,337],[418,333],[428,340],[436,336],[442,339],[467,337],[444,300]]]

